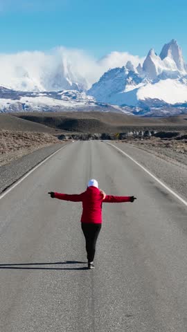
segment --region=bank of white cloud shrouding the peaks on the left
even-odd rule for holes
[[[87,87],[90,87],[109,68],[124,66],[128,60],[134,66],[143,62],[138,56],[119,52],[110,53],[98,60],[84,50],[62,46],[46,53],[0,53],[0,85],[17,90],[47,91],[56,89],[55,86],[60,89],[63,85],[62,77],[67,77],[70,81],[82,84],[86,82]]]

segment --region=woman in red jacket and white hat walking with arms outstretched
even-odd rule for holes
[[[98,181],[89,180],[87,190],[82,194],[60,194],[48,192],[52,199],[64,201],[82,202],[81,225],[86,239],[88,268],[94,268],[94,256],[96,241],[102,224],[102,203],[134,202],[134,196],[109,196],[103,190],[98,189]]]

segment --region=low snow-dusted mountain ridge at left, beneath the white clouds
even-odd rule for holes
[[[112,111],[131,114],[128,107],[112,106],[76,90],[27,92],[0,86],[0,113],[42,111]]]

